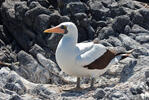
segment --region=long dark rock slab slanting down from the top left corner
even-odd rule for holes
[[[5,1],[2,5],[2,17],[3,24],[6,26],[7,31],[14,37],[17,43],[24,49],[28,50],[30,48],[31,40],[28,35],[23,30],[21,22],[15,19],[15,6],[16,1]],[[11,5],[10,5],[11,4]]]

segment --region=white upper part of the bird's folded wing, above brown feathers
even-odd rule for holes
[[[77,48],[79,49],[79,54],[76,57],[76,63],[80,66],[86,66],[92,63],[107,51],[106,47],[102,44],[92,43],[92,45],[90,46],[87,45],[89,44],[79,43],[77,45]]]

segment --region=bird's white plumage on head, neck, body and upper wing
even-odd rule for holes
[[[78,30],[71,22],[60,24],[66,25],[68,33],[60,40],[56,50],[56,61],[62,71],[74,76],[97,76],[103,74],[107,68],[102,70],[84,68],[102,56],[106,47],[102,44],[77,43]]]

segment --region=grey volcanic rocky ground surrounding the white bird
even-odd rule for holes
[[[76,77],[61,72],[54,55],[62,36],[43,34],[65,21],[78,26],[79,42],[98,38],[134,52],[99,76],[94,89],[82,78],[84,89],[71,91]],[[135,0],[1,0],[0,100],[78,99],[149,100],[149,6]]]

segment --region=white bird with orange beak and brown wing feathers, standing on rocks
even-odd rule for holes
[[[56,61],[63,72],[77,76],[77,88],[80,88],[80,77],[102,75],[119,60],[126,58],[132,52],[116,53],[102,44],[94,42],[77,43],[78,29],[72,22],[63,22],[56,27],[46,29],[45,33],[60,33],[64,36],[56,49]]]

